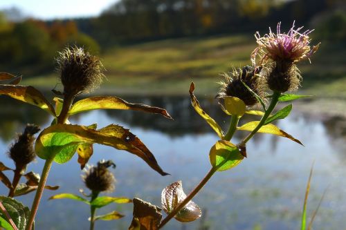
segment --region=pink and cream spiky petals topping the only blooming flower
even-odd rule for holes
[[[281,22],[277,23],[276,34],[271,32],[271,28],[269,28],[269,34],[264,35],[264,37],[261,37],[260,33],[256,32],[255,37],[258,47],[251,54],[251,61],[253,61],[254,65],[257,55],[260,56],[260,65],[264,64],[268,59],[293,64],[302,59],[309,59],[318,49],[320,44],[312,48],[310,47],[311,39],[308,35],[313,30],[306,30],[300,33],[303,27],[295,30],[293,22],[293,26],[288,33],[281,33],[280,26]]]

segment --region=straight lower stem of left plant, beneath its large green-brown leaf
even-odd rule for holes
[[[46,184],[48,173],[49,173],[49,170],[51,169],[53,160],[54,160],[54,156],[51,158],[48,158],[46,162],[44,163],[44,169],[42,170],[41,179],[39,180],[39,185],[37,187],[37,191],[35,194],[33,206],[31,207],[31,210],[30,210],[30,217],[29,217],[28,223],[26,224],[26,230],[31,230],[31,228],[33,227],[35,215],[37,213],[37,209],[39,208],[39,201],[41,200],[42,193],[44,191],[44,185]]]

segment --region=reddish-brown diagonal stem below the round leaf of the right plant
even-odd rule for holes
[[[161,224],[158,226],[158,229],[161,229],[165,224],[167,224],[168,221],[170,221],[176,213],[178,213],[183,207],[185,207],[192,198],[194,198],[194,195],[196,195],[202,188],[203,186],[208,182],[208,180],[212,177],[212,175],[217,171],[216,168],[212,167],[210,171],[207,173],[207,175],[199,182],[199,184],[194,188],[194,190],[191,191],[191,193],[181,202],[178,207],[176,207],[170,214],[166,216],[165,219],[161,222]]]

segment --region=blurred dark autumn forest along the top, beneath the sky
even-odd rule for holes
[[[35,75],[51,69],[56,50],[66,44],[103,52],[156,39],[268,31],[278,21],[284,28],[294,20],[318,28],[322,39],[346,39],[345,5],[343,0],[121,0],[88,19],[8,21],[0,14],[0,68]]]

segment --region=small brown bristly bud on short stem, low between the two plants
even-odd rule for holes
[[[95,193],[113,191],[116,179],[108,170],[109,166],[115,168],[116,164],[111,160],[107,162],[102,160],[98,162],[97,166],[90,166],[89,169],[86,170],[85,175],[82,176],[85,186]]]

